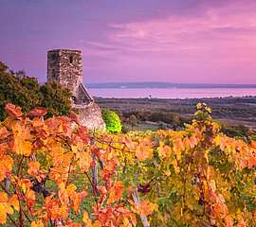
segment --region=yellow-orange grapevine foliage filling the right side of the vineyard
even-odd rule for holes
[[[197,108],[184,131],[109,136],[121,178],[158,204],[152,226],[254,226],[256,142],[229,138]]]

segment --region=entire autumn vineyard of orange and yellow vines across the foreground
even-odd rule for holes
[[[8,104],[0,124],[0,225],[256,226],[256,141],[197,105],[184,131],[87,131]]]

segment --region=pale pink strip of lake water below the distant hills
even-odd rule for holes
[[[120,98],[256,96],[256,88],[90,88],[88,90],[92,96]]]

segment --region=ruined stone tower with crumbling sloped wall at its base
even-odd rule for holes
[[[72,93],[73,109],[88,129],[104,129],[101,108],[82,84],[82,51],[54,49],[47,52],[47,80],[59,82]]]

